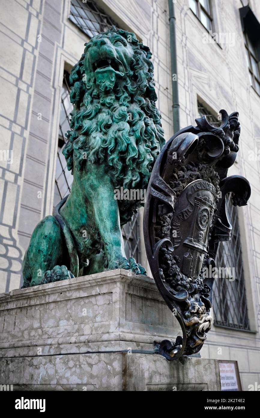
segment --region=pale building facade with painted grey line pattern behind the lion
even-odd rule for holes
[[[215,288],[215,325],[201,354],[237,360],[242,389],[248,390],[260,383],[260,32],[252,41],[245,25],[244,37],[242,0],[173,4],[180,127],[194,124],[202,113],[217,123],[222,108],[240,113],[240,151],[231,173],[250,181],[252,195],[247,206],[230,213],[234,235],[218,258],[220,265],[231,263],[236,278]],[[115,23],[150,47],[166,140],[174,128],[176,77],[167,0],[2,0],[0,7],[0,292],[7,292],[22,283],[22,260],[35,225],[69,191],[60,152],[70,109],[67,75],[89,36]],[[251,0],[249,7],[257,25],[260,3]],[[141,218],[140,211],[124,236],[130,255],[149,273]]]

